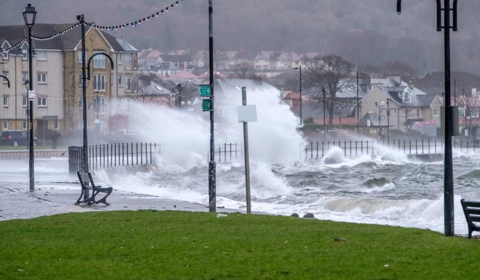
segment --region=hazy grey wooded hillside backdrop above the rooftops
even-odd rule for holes
[[[22,24],[27,2],[1,0],[0,25]],[[39,23],[86,21],[119,25],[151,15],[174,1],[32,0]],[[443,2],[443,1],[442,1]],[[354,64],[398,60],[421,71],[443,67],[443,34],[435,31],[435,1],[213,0],[215,50],[319,51]],[[480,74],[476,29],[480,1],[460,0],[459,30],[451,35],[452,69]],[[207,49],[208,1],[185,0],[173,13],[136,29],[112,33],[137,48]]]

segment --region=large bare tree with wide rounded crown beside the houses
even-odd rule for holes
[[[349,77],[353,71],[353,64],[335,55],[306,58],[304,64],[307,68],[308,84],[318,87],[325,92],[325,97],[328,97],[328,126],[331,127],[336,93],[351,86],[352,80]],[[321,100],[322,98],[318,99]]]

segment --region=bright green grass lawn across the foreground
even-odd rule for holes
[[[467,279],[479,255],[474,239],[284,216],[145,210],[0,222],[0,279]]]

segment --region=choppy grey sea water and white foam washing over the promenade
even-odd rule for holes
[[[250,166],[252,211],[303,215],[443,231],[443,162],[416,162],[403,156],[343,157],[332,148],[321,160],[292,165]],[[480,153],[454,151],[455,233],[467,232],[460,199],[480,200]],[[157,158],[161,162],[161,158]],[[328,162],[328,163],[326,163]],[[1,185],[27,186],[28,161],[1,160]],[[98,183],[123,191],[208,203],[207,165],[188,170],[165,164],[147,171],[105,169]],[[35,160],[36,187],[75,187],[64,158]],[[242,162],[217,164],[217,206],[246,209]]]

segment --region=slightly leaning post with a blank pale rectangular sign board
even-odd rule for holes
[[[246,87],[241,87],[241,105],[237,107],[238,122],[243,123],[243,150],[245,153],[246,212],[251,213],[250,160],[248,157],[248,122],[256,121],[256,106],[246,105]]]

